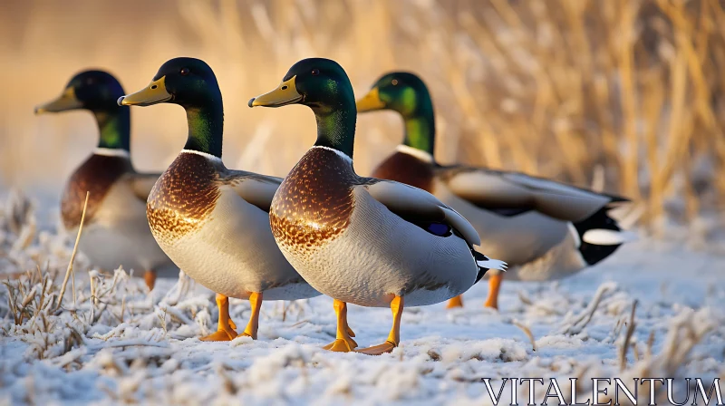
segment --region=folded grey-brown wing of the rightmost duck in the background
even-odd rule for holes
[[[577,222],[614,203],[628,201],[517,172],[459,170],[445,179],[459,198],[503,215],[536,210],[551,218]]]

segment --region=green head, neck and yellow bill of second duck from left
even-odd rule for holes
[[[174,58],[161,65],[146,88],[122,96],[124,106],[150,106],[168,102],[187,111],[189,137],[186,150],[198,150],[221,158],[224,106],[217,76],[204,61]]]

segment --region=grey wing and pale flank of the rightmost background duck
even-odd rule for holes
[[[587,229],[611,227],[604,222],[610,220],[606,210],[613,198],[605,195],[516,172],[463,166],[437,168],[433,189],[476,227],[487,254],[507,261],[507,279],[573,275],[616,249],[592,246],[587,251],[581,241]]]

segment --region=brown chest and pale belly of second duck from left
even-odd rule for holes
[[[149,199],[154,237],[169,257],[214,292],[295,300],[318,295],[276,247],[265,211],[218,182],[207,158],[182,153]]]

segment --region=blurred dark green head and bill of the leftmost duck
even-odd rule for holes
[[[116,104],[122,95],[121,83],[111,73],[84,71],[73,76],[58,98],[36,107],[35,114],[80,109],[91,111],[100,131],[98,146],[130,150],[129,108]]]

